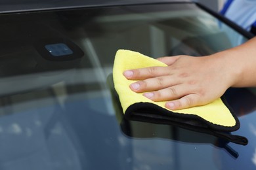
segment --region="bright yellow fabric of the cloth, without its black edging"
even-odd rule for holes
[[[114,61],[113,68],[113,79],[114,79],[114,88],[119,95],[119,100],[123,113],[127,110],[128,107],[135,103],[152,103],[158,105],[159,107],[168,110],[165,108],[165,101],[154,102],[142,95],[142,93],[133,92],[129,85],[134,80],[127,80],[123,76],[123,72],[129,69],[138,69],[142,67],[153,67],[153,66],[162,66],[166,67],[165,63],[161,63],[157,59],[149,58],[144,56],[139,52],[133,52],[130,50],[118,50],[116,53],[116,58]],[[212,124],[217,124],[225,127],[232,127],[236,125],[236,120],[230,110],[224,105],[221,98],[216,99],[212,103],[207,105],[192,107],[189,109],[182,110],[169,110],[169,114],[173,112],[180,114],[194,114],[207,120]]]

